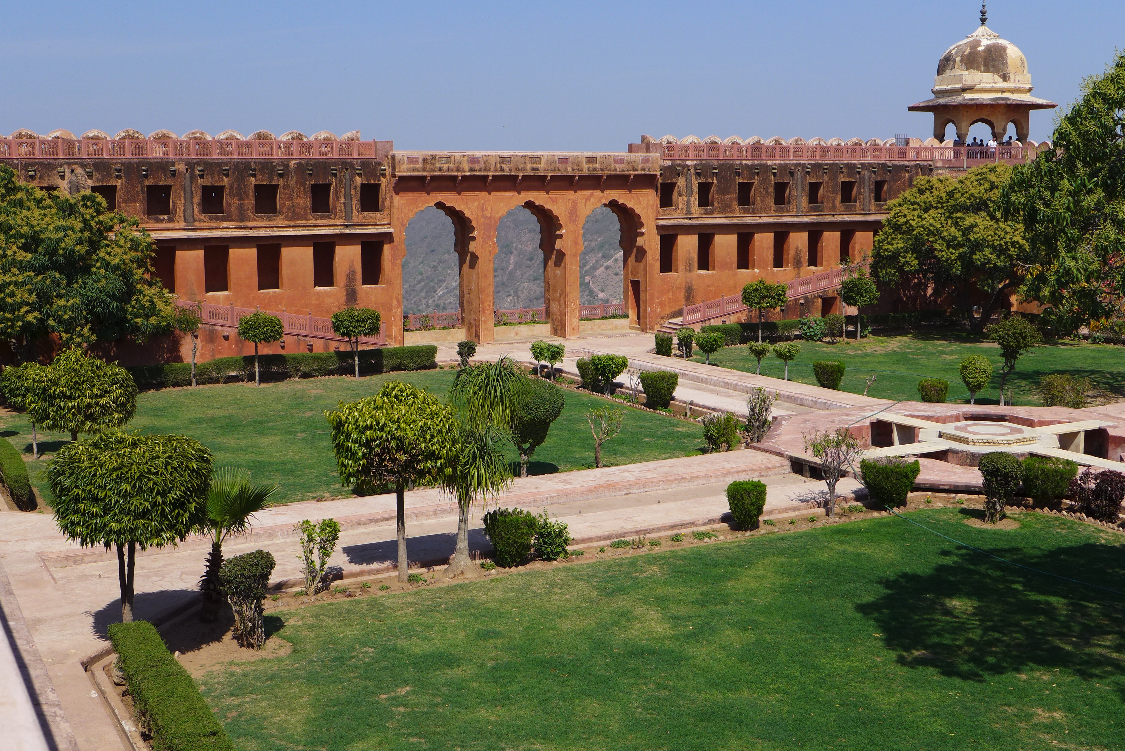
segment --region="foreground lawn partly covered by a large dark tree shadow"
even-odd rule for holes
[[[1119,535],[966,513],[909,517],[1125,591]],[[1120,594],[893,517],[669,546],[281,610],[202,692],[244,751],[1123,748]]]

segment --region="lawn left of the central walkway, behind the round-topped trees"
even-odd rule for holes
[[[400,379],[444,397],[453,370],[395,373],[360,378],[309,378],[254,387],[248,384],[169,388],[142,393],[129,429],[180,433],[197,438],[215,454],[216,464],[236,464],[255,480],[281,485],[280,502],[349,495],[340,485],[324,410],[341,401],[374,394],[388,379]],[[532,474],[567,472],[593,466],[594,439],[584,413],[605,401],[566,392],[566,408],[536,452]],[[2,431],[25,452],[32,482],[46,497],[42,476],[46,461],[32,462],[30,428],[22,414],[0,418]],[[40,450],[57,450],[69,439],[60,433],[39,436]],[[606,464],[650,462],[698,453],[703,430],[683,420],[626,410],[621,433],[602,449]],[[514,452],[512,459],[516,458]],[[50,498],[48,498],[50,500]]]

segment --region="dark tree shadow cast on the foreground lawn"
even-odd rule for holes
[[[1032,569],[1125,589],[1119,546],[1087,543],[993,555]],[[984,681],[990,676],[1062,668],[1087,680],[1125,671],[1125,597],[1001,563],[973,551],[944,551],[926,574],[884,580],[886,592],[856,606],[909,668]],[[1118,685],[1125,698],[1125,685]]]

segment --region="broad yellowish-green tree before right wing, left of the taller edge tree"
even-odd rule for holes
[[[871,275],[885,287],[947,290],[980,332],[1038,262],[1023,223],[1002,215],[1000,195],[1011,171],[989,164],[960,178],[917,178],[888,204]]]

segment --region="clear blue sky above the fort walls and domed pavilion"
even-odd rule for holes
[[[354,128],[399,149],[623,150],[642,133],[930,135],[937,60],[979,2],[3,3],[0,133]],[[993,0],[1068,105],[1125,2]],[[1032,115],[1048,138],[1053,115]],[[978,134],[976,131],[973,132]]]

